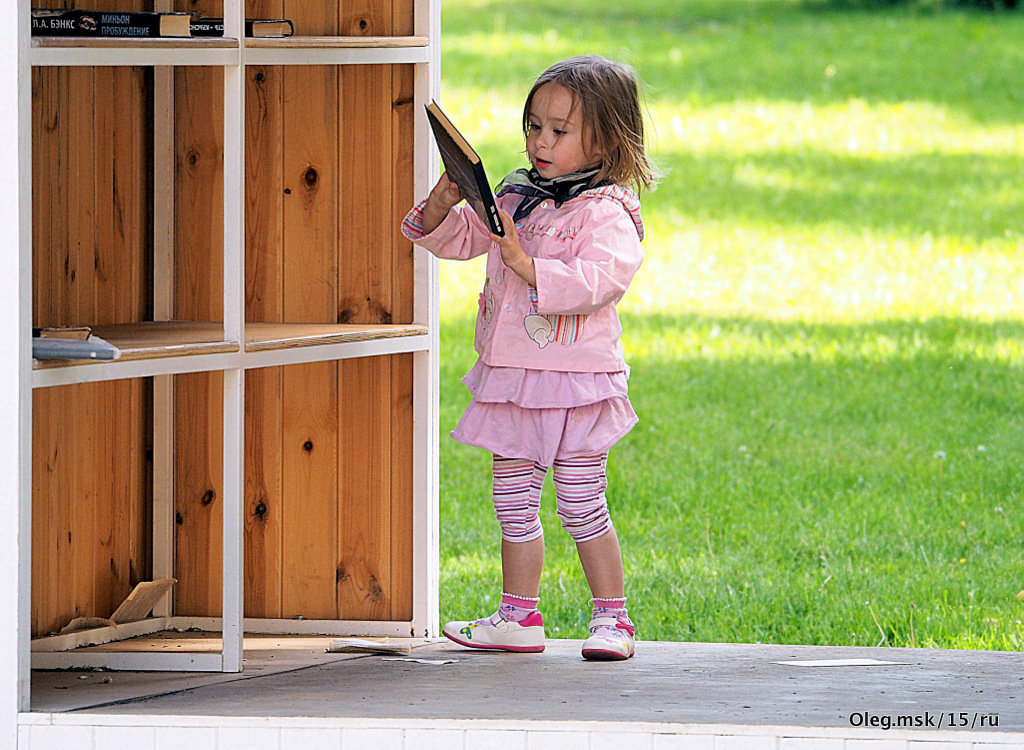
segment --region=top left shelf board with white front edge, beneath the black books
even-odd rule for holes
[[[34,37],[30,58],[46,66],[237,66],[238,39]]]

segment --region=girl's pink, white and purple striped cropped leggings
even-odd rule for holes
[[[562,528],[577,542],[597,539],[611,530],[605,465],[608,454],[557,459],[552,466],[555,500]],[[518,458],[494,459],[495,514],[502,539],[529,542],[544,535],[541,527],[541,490],[548,467]]]

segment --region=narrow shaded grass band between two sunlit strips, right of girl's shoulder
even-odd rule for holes
[[[921,154],[856,157],[812,149],[659,155],[670,169],[645,197],[650,215],[770,225],[845,224],[985,240],[1020,232],[1024,158]],[[664,198],[663,198],[664,196]],[[669,202],[667,202],[667,200]]]

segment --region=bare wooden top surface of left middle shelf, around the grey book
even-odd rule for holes
[[[239,344],[224,340],[219,323],[167,321],[125,323],[116,326],[92,326],[92,333],[121,349],[118,362],[154,360],[164,357],[188,357],[238,351]],[[90,365],[96,360],[37,360],[37,370],[53,367]]]

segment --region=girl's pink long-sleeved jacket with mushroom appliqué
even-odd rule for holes
[[[507,194],[498,205],[511,214],[520,200]],[[596,187],[559,208],[544,201],[516,224],[522,249],[534,258],[537,289],[502,262],[497,243],[465,205],[424,235],[425,204],[406,216],[407,238],[439,258],[487,253],[475,338],[484,364],[563,372],[626,369],[615,302],[643,260],[643,221],[633,191]]]

